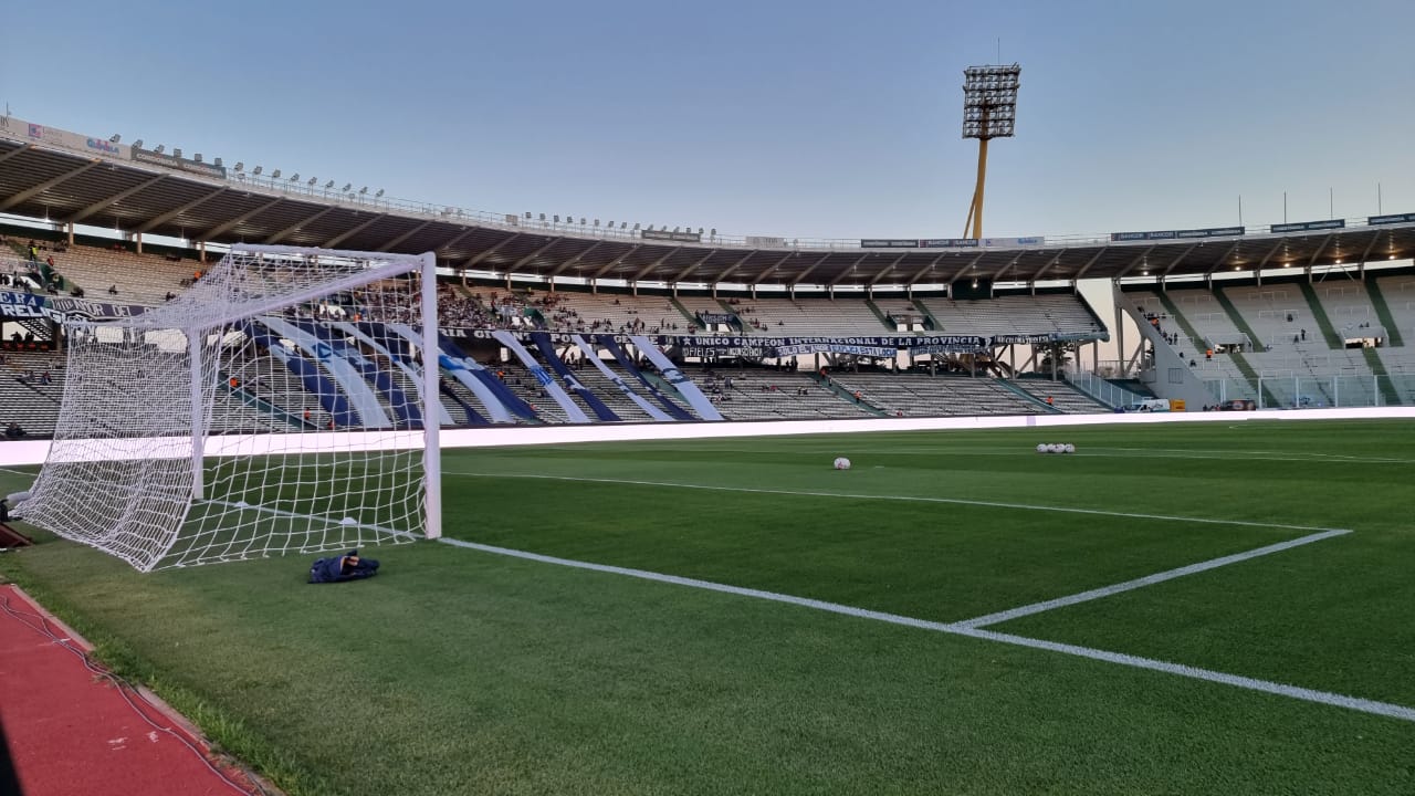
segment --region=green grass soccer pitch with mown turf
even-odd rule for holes
[[[449,450],[444,530],[951,623],[1348,528],[986,630],[1415,708],[1412,443],[1235,421]],[[365,552],[382,574],[337,586],[300,557],[139,575],[52,540],[0,574],[294,795],[1415,793],[1404,718],[449,544]]]

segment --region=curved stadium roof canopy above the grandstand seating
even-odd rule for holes
[[[35,144],[0,130],[0,212],[57,224],[117,227],[214,244],[258,242],[417,254],[477,271],[630,282],[899,286],[958,279],[1036,282],[1203,276],[1254,269],[1353,265],[1415,254],[1415,215],[1272,234],[1201,231],[1172,239],[1044,239],[1034,245],[917,248],[934,241],[780,238],[647,239],[620,228],[320,191],[269,178],[190,174],[113,153]],[[126,149],[126,147],[125,147]],[[190,163],[190,161],[188,161]],[[245,176],[239,176],[245,177]],[[669,238],[675,234],[658,232]],[[1179,235],[1183,235],[1180,232]],[[683,238],[693,238],[685,234]],[[1041,239],[1012,239],[1041,241]],[[872,248],[862,248],[870,244]],[[940,242],[938,245],[949,245]]]

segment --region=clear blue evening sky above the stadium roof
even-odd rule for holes
[[[16,3],[16,116],[495,212],[957,237],[1415,211],[1415,3]],[[21,47],[23,42],[23,47]]]

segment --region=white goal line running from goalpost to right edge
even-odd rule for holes
[[[1114,653],[1107,650],[1097,650],[1091,647],[1080,647],[1075,644],[1061,644],[1056,642],[1046,642],[1040,639],[1027,639],[1023,636],[1012,636],[1007,633],[995,633],[992,630],[982,630],[976,627],[962,627],[958,625],[944,623],[944,622],[930,622],[927,619],[913,619],[910,616],[900,616],[897,613],[884,613],[879,610],[866,610],[863,608],[852,608],[849,605],[839,605],[833,602],[825,602],[809,598],[799,598],[792,595],[782,595],[777,592],[767,592],[761,589],[747,589],[741,586],[729,586],[726,584],[715,584],[712,581],[699,581],[695,578],[682,578],[678,575],[662,575],[658,572],[648,572],[645,569],[630,569],[625,567],[610,567],[607,564],[590,564],[586,561],[574,561],[569,558],[556,558],[553,555],[541,555],[536,552],[525,552],[519,550],[509,550],[504,547],[492,547],[487,544],[468,542],[453,538],[437,540],[443,544],[450,544],[454,547],[478,550],[483,552],[491,552],[495,555],[508,555],[512,558],[525,558],[529,561],[539,561],[542,564],[555,564],[559,567],[573,567],[576,569],[590,569],[594,572],[606,572],[611,575],[624,575],[630,578],[640,578],[644,581],[657,581],[661,584],[672,584],[678,586],[688,586],[693,589],[706,589],[713,592],[722,592],[736,596],[746,596],[753,599],[766,599],[771,602],[784,602],[788,605],[797,605],[801,608],[809,608],[815,610],[825,610],[829,613],[841,613],[845,616],[853,616],[857,619],[872,619],[874,622],[886,622],[890,625],[903,625],[906,627],[917,627],[921,630],[932,630],[937,633],[948,633],[954,636],[965,636],[969,639],[981,639],[986,642],[996,642],[1003,644],[1013,644],[1020,647],[1030,647],[1037,650],[1047,650],[1054,653],[1063,653],[1070,656],[1087,657],[1091,660],[1101,660],[1105,663],[1115,663],[1121,666],[1129,666],[1135,669],[1148,669],[1150,671],[1162,671],[1165,674],[1176,674],[1180,677],[1190,677],[1193,680],[1204,680],[1208,683],[1220,683],[1224,686],[1232,686],[1235,688],[1247,688],[1249,691],[1261,691],[1266,694],[1276,694],[1279,697],[1288,697],[1293,700],[1302,700],[1306,703],[1317,703],[1323,705],[1340,707],[1347,710],[1354,710],[1367,714],[1384,715],[1388,718],[1397,718],[1401,721],[1415,722],[1415,708],[1405,705],[1397,705],[1392,703],[1378,703],[1374,700],[1363,700],[1357,697],[1347,697],[1343,694],[1333,694],[1329,691],[1316,691],[1312,688],[1299,688],[1296,686],[1286,686],[1282,683],[1272,683],[1268,680],[1257,680],[1252,677],[1241,677],[1238,674],[1227,674],[1223,671],[1213,671],[1207,669],[1197,669],[1193,666],[1184,666],[1179,663],[1169,663],[1163,660],[1155,660],[1148,657],[1138,657],[1124,653]]]

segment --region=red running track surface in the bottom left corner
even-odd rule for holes
[[[260,793],[208,765],[170,708],[89,669],[75,654],[88,649],[17,586],[0,586],[0,725],[24,796]]]

